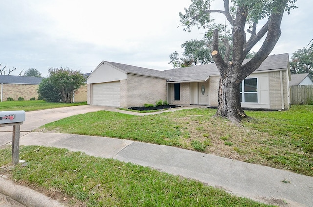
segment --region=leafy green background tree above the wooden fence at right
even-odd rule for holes
[[[298,49],[292,54],[290,65],[292,67],[291,73],[310,73],[313,75],[313,49]]]

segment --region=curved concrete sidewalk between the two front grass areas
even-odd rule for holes
[[[170,146],[106,137],[31,132],[20,145],[82,151],[199,180],[238,196],[278,206],[313,207],[313,177]],[[288,180],[288,183],[282,180]]]

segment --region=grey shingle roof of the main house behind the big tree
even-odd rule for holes
[[[243,64],[250,60],[251,59],[245,59]],[[108,61],[103,62],[112,65],[113,67],[118,68],[119,70],[122,70],[127,74],[158,77],[167,79],[168,82],[204,82],[212,75],[220,75],[215,64],[205,64],[199,66],[191,66],[185,68],[160,71],[116,62]],[[265,59],[265,61],[262,62],[260,67],[256,69],[256,71],[282,70],[288,67],[289,67],[289,56],[288,53],[284,53],[279,55],[268,56]]]

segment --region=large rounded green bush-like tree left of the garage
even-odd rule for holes
[[[38,93],[40,98],[47,101],[70,103],[74,90],[84,85],[84,82],[85,78],[80,71],[73,71],[68,67],[50,68],[49,77],[40,83]],[[46,93],[49,89],[53,92]]]

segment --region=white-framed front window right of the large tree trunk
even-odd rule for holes
[[[258,102],[258,79],[246,78],[240,84],[240,102]]]

